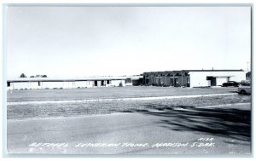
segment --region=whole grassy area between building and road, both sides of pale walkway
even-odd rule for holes
[[[165,87],[122,87],[91,89],[35,89],[8,91],[8,102],[67,101],[105,98],[136,98],[170,95],[204,95],[236,93],[237,88],[189,89]],[[136,110],[186,108],[251,102],[247,95],[203,96],[199,98],[148,101],[94,101],[57,104],[18,104],[7,108],[8,119],[74,117]]]

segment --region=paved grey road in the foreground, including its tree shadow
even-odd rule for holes
[[[79,118],[8,120],[8,151],[33,154],[248,154],[251,151],[249,113],[250,105],[239,104]]]

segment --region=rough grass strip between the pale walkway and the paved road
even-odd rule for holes
[[[132,112],[134,110],[164,110],[173,107],[212,106],[251,102],[249,95],[203,96],[199,98],[150,101],[99,101],[60,104],[26,104],[7,106],[8,119],[76,117],[93,114]]]

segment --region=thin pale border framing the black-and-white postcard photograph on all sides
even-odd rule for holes
[[[160,4],[160,3],[176,3],[176,4],[182,4],[182,3],[189,3],[189,4],[195,4],[195,3],[204,3],[204,4],[214,4],[214,3],[218,3],[218,4],[227,4],[227,3],[252,3],[254,4],[255,1],[253,0],[147,0],[147,1],[143,1],[143,0],[108,0],[108,1],[104,1],[104,0],[2,0],[2,8],[1,8],[1,21],[2,21],[2,26],[1,29],[3,31],[3,3],[152,3],[152,4]],[[255,22],[255,16],[253,13],[253,22]],[[3,32],[1,32],[1,36],[3,37]],[[253,32],[253,37],[254,37],[254,32]],[[253,46],[255,46],[255,41],[253,42]],[[3,38],[2,38],[2,43],[0,44],[0,49],[3,49]],[[3,50],[2,50],[2,55],[0,56],[1,61],[3,62]],[[254,57],[252,62],[254,62]],[[252,63],[253,64],[253,63]],[[253,66],[252,66],[253,68]],[[3,89],[3,66],[1,66],[1,80],[0,80],[0,89]],[[253,76],[255,74],[255,71],[253,70]],[[253,91],[254,91],[254,85],[253,85]],[[254,92],[253,92],[254,93]],[[253,100],[254,100],[255,96],[253,95]],[[0,94],[0,102],[1,105],[3,105],[3,92],[1,92]],[[0,115],[3,116],[3,106],[0,110]],[[253,110],[253,116],[255,116],[255,110]],[[3,119],[0,119],[0,124],[3,124]],[[254,119],[253,119],[254,120]],[[3,145],[3,126],[0,126],[1,128],[1,138],[0,138],[0,142]],[[253,124],[253,134],[254,133],[254,129],[255,129],[255,124]],[[254,154],[254,147],[255,147],[255,141],[253,141],[253,154]],[[3,157],[3,146],[0,146],[0,152],[2,154]],[[253,158],[214,158],[214,156],[212,156],[213,158],[183,158],[183,159],[189,159],[189,160],[216,160],[216,159],[232,159],[233,161],[236,160],[253,160]],[[15,159],[19,159],[20,158],[3,158],[3,160],[15,160]],[[21,158],[21,160],[34,160],[35,158]],[[44,159],[49,159],[49,158],[37,158],[38,160],[44,160]],[[50,160],[55,160],[55,158],[50,158]],[[67,160],[69,158],[61,158],[63,160]],[[72,158],[73,159],[73,158]],[[76,159],[88,159],[88,158],[76,158]],[[91,160],[117,160],[119,158],[90,158]],[[123,160],[127,160],[130,158],[122,158]],[[137,158],[137,159],[142,159],[142,158]],[[147,160],[152,160],[152,159],[156,159],[156,158],[143,158],[143,159],[147,159]],[[179,159],[179,158],[157,158],[157,159]]]

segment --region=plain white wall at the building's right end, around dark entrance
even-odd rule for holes
[[[246,72],[189,72],[190,87],[208,86],[207,77],[230,76],[230,81],[241,82],[246,79]],[[224,78],[217,78],[217,85],[224,83]]]

